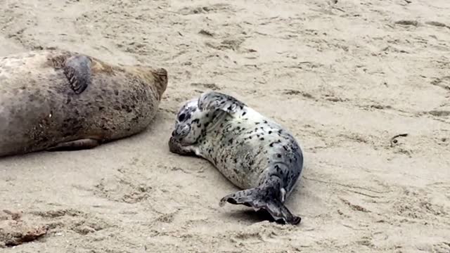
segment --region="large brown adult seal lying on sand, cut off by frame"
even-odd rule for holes
[[[109,65],[60,50],[0,59],[0,157],[94,148],[152,122],[167,87],[162,68]]]

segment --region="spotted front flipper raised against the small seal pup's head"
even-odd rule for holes
[[[243,110],[245,103],[224,93],[210,91],[202,93],[198,98],[198,108],[200,110],[223,110],[233,114]]]

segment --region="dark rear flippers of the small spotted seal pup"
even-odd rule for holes
[[[297,225],[302,221],[299,216],[293,215],[288,207],[275,197],[270,197],[267,189],[252,188],[248,190],[240,190],[236,193],[226,195],[223,197],[219,205],[225,205],[229,202],[234,205],[245,205],[253,207],[255,210],[264,209],[274,218],[278,223],[289,223]]]

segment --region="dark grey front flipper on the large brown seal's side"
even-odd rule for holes
[[[89,57],[71,56],[65,60],[63,70],[75,93],[82,93],[91,84],[91,59]]]

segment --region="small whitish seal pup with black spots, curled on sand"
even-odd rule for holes
[[[179,110],[169,150],[209,160],[241,189],[220,201],[264,209],[274,220],[297,224],[285,207],[303,167],[295,138],[282,126],[223,93],[203,93]]]

